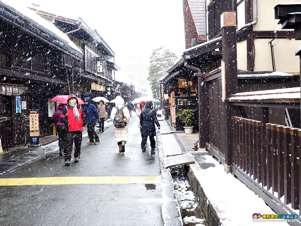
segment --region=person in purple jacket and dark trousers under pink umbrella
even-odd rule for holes
[[[55,130],[58,134],[58,146],[60,148],[60,155],[65,156],[66,143],[67,143],[67,128],[64,123],[61,122],[62,109],[66,107],[66,104],[60,104],[54,114],[51,116],[52,121],[56,121]]]

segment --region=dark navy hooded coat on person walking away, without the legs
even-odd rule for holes
[[[141,111],[140,114],[140,125],[141,125],[141,136],[156,136],[156,127],[160,126],[157,115],[154,110],[153,103],[147,101],[145,104],[145,109]]]

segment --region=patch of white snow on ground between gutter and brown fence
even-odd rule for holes
[[[253,222],[253,213],[277,214],[246,185],[230,173],[226,174],[223,165],[218,164],[210,155],[204,157],[206,162],[216,166],[201,169],[198,165],[191,164],[191,168],[221,218],[222,225],[262,225],[261,222]],[[288,226],[287,222],[264,222],[264,225]]]

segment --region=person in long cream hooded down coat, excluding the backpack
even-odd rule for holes
[[[115,105],[120,109],[124,106],[124,100],[121,96],[116,96],[115,98]],[[111,111],[110,118],[113,121],[115,114],[116,114],[116,107],[113,107]],[[130,120],[130,113],[127,107],[123,108],[123,116],[126,118],[126,126],[121,128],[114,127],[114,141],[117,142],[119,146],[119,152],[125,151],[126,142],[129,141],[129,131],[128,131],[128,124]]]

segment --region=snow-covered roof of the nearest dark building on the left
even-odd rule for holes
[[[82,51],[69,39],[66,34],[31,11],[29,8],[25,7],[25,5],[20,4],[20,2],[16,3],[11,0],[0,0],[0,7],[6,11],[4,14],[2,14],[6,19],[13,21],[14,23],[20,25],[20,27],[24,27],[24,30],[31,31],[32,33],[53,43],[58,48],[64,49],[68,53],[72,53],[80,58],[83,56]],[[27,25],[26,23],[33,26],[33,28],[25,28]],[[53,39],[57,39],[58,42],[54,41]]]

